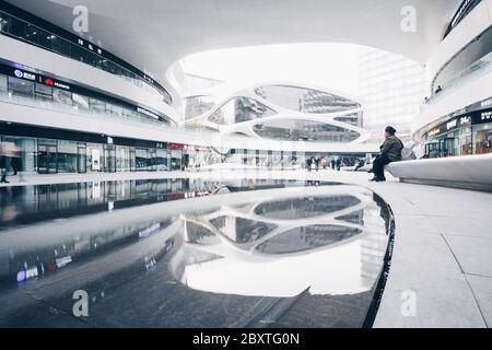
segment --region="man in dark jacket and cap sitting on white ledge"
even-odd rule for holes
[[[374,178],[372,182],[384,183],[385,177],[385,166],[393,162],[401,161],[401,150],[403,149],[403,143],[398,139],[394,127],[387,127],[385,129],[386,141],[380,147],[380,154],[376,156],[373,163]]]

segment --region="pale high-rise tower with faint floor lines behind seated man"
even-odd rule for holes
[[[361,47],[360,94],[364,128],[371,131],[372,141],[382,140],[388,125],[409,141],[411,122],[425,97],[423,67],[391,52]]]

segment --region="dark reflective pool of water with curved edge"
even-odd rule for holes
[[[361,327],[374,317],[394,228],[377,195],[332,183],[0,195],[0,326]]]

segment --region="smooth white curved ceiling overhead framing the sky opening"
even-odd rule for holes
[[[425,63],[461,0],[8,0],[72,31],[75,5],[90,11],[98,44],[165,86],[178,59],[204,50],[290,43],[352,43]],[[403,33],[401,9],[417,9]],[[90,36],[90,37],[89,37]]]

